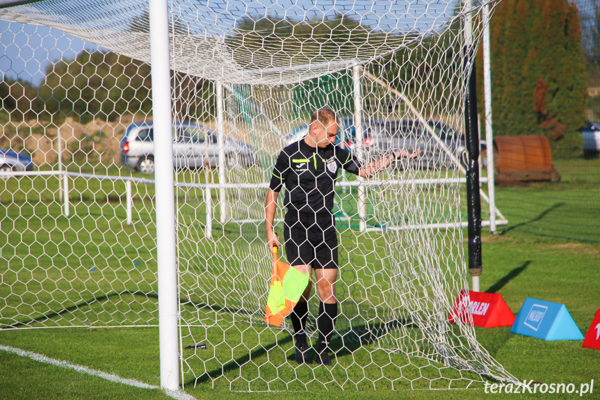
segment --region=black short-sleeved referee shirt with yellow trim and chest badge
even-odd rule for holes
[[[311,147],[302,139],[279,154],[269,187],[279,192],[285,184],[284,203],[289,212],[331,214],[339,168],[358,175],[361,164],[339,147]]]

